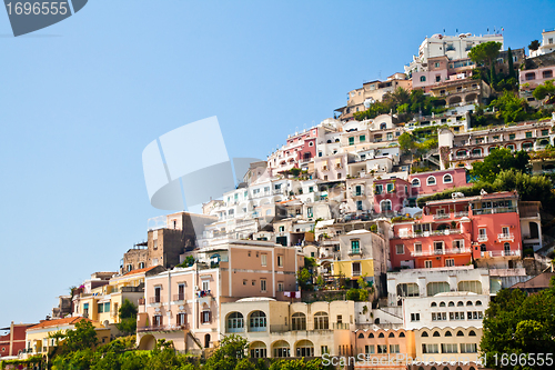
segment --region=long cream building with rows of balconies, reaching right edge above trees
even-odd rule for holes
[[[495,148],[507,148],[513,151],[544,149],[554,142],[555,136],[552,132],[554,124],[555,119],[464,133],[442,129],[438,132],[440,151],[443,147],[448,148],[451,167],[471,168],[472,162],[483,160]]]

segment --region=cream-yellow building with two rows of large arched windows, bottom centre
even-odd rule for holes
[[[340,356],[352,351],[354,302],[245,298],[221,306],[221,328],[224,336],[246,338],[251,358]]]

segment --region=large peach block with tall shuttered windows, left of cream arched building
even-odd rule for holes
[[[304,256],[294,247],[261,240],[222,240],[192,252],[196,261],[145,280],[138,344],[170,338],[178,350],[212,348],[220,340],[220,304],[245,297],[285,299],[296,291]]]

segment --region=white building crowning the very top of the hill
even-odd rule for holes
[[[436,33],[431,38],[426,37],[418,48],[418,54],[413,57],[411,64],[405,66],[405,73],[412,76],[415,72],[428,71],[431,67],[430,59],[435,60],[438,57],[447,57],[450,61],[468,59],[468,51],[474,46],[487,41],[503,44],[503,34],[473,36],[472,33],[461,33],[458,36],[445,36]],[[435,66],[434,63],[432,68],[435,68]]]

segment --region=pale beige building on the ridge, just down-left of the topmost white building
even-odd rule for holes
[[[335,109],[342,121],[352,120],[353,113],[369,109],[370,104],[382,101],[383,96],[397,88],[412,90],[412,81],[404,73],[394,73],[387,80],[373,80],[362,84],[362,88],[347,92],[347,104]]]

